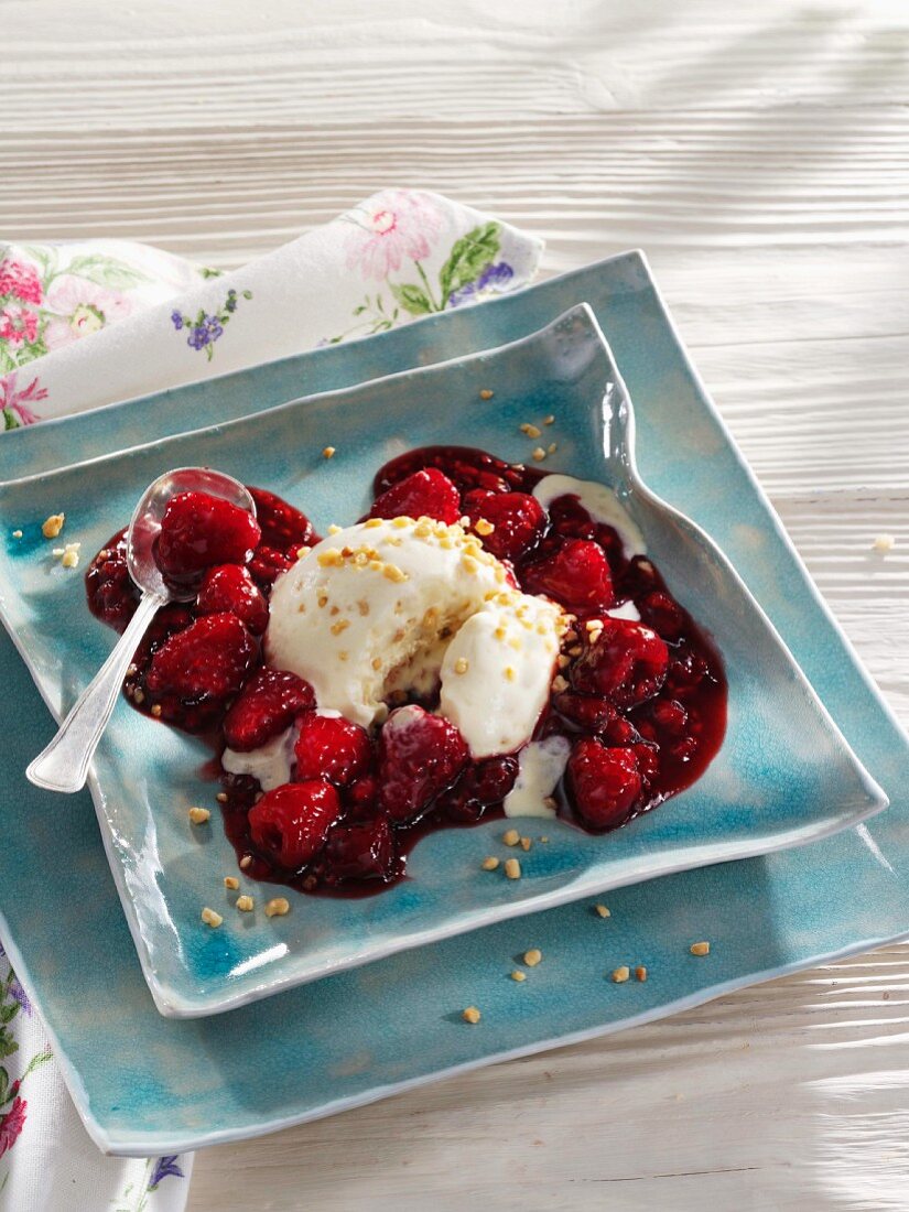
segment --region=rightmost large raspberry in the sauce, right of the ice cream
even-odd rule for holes
[[[618,707],[653,698],[665,681],[669,651],[656,631],[624,618],[604,619],[599,638],[571,671],[576,690]]]

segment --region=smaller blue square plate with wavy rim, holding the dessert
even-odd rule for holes
[[[493,391],[480,400],[480,389]],[[255,378],[252,383],[255,391]],[[81,576],[50,556],[41,521],[65,511],[91,553],[167,468],[210,465],[271,488],[325,532],[368,508],[377,468],[410,446],[471,441],[509,459],[532,445],[527,418],[554,413],[547,467],[610,484],[675,596],[713,634],[728,680],[719,755],[691,788],[606,836],[545,822],[549,845],[521,856],[524,877],[481,870],[501,822],[430,834],[408,879],[368,901],[290,892],[292,913],[238,914],[224,891],[234,851],[188,808],[212,802],[204,744],[121,703],[91,779],[102,835],[145,978],[162,1013],[207,1014],[410,947],[598,892],[816,841],[886,805],[762,611],[703,532],[657,501],[630,457],[624,384],[593,313],[578,307],[499,349],[308,396],[251,417],[0,484],[0,614],[45,701],[68,710],[113,640],[87,612]],[[331,442],[331,461],[321,450]],[[141,756],[139,756],[141,755]],[[69,811],[61,804],[59,812]],[[539,825],[541,822],[533,822]],[[262,907],[274,885],[241,876]],[[224,911],[212,931],[202,905]]]

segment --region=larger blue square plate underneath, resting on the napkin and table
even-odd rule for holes
[[[53,726],[0,635],[0,934],[102,1148],[147,1156],[274,1131],[909,933],[909,743],[743,465],[640,256],[361,345],[13,433],[0,441],[0,479],[176,433],[188,416],[208,424],[244,416],[252,399],[270,407],[505,343],[582,299],[635,400],[645,480],[722,544],[891,807],[812,846],[621,888],[605,921],[588,902],[562,905],[177,1022],[148,994],[88,795],[63,800],[22,777]],[[696,938],[711,941],[705,959],[688,954]],[[508,973],[527,947],[544,962],[518,985]],[[605,973],[623,961],[646,964],[648,981],[612,984]],[[459,1019],[471,1002],[478,1027]]]

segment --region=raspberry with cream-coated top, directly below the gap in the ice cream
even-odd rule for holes
[[[448,720],[412,704],[393,711],[379,737],[379,807],[416,819],[467,765],[467,742]]]

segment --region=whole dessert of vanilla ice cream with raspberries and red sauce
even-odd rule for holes
[[[722,664],[601,485],[425,447],[320,538],[259,488],[256,518],[175,497],[156,559],[195,599],[159,612],[127,699],[211,739],[253,879],[378,891],[438,828],[494,816],[613,829],[720,747]],[[86,573],[118,630],[124,533]]]

